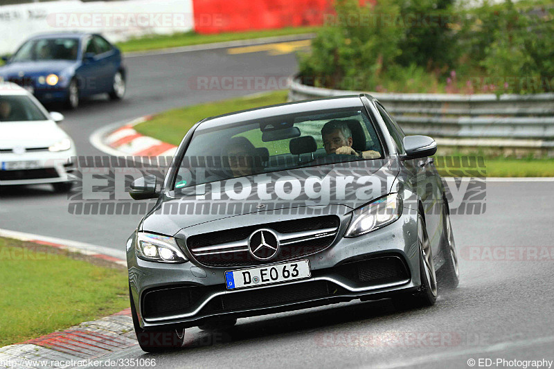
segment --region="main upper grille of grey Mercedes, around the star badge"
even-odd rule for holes
[[[246,267],[301,258],[322,251],[332,244],[339,224],[336,215],[294,219],[193,235],[188,237],[186,245],[196,260],[206,266]],[[280,241],[279,252],[271,260],[257,260],[249,252],[248,239],[260,228],[275,231]]]

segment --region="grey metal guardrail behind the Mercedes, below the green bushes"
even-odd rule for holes
[[[357,94],[290,81],[289,101]],[[533,95],[371,93],[406,134],[441,145],[534,150],[554,156],[554,93]]]

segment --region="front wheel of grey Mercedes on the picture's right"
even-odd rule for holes
[[[423,217],[418,215],[418,243],[420,246],[420,279],[421,285],[415,294],[406,294],[393,298],[393,304],[400,309],[412,309],[415,307],[427,307],[435,305],[437,300],[437,278],[433,253],[427,228]]]

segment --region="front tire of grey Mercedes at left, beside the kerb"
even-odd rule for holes
[[[139,324],[139,318],[136,315],[130,286],[129,301],[131,303],[131,315],[133,318],[136,340],[139,341],[139,346],[141,346],[144,352],[164,352],[182,347],[185,341],[184,328],[174,330],[143,330]]]

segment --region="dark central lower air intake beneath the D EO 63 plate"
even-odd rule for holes
[[[241,291],[222,297],[225,310],[249,309],[251,307],[274,306],[285,303],[295,303],[329,296],[328,282],[302,282],[293,285],[269,287]]]

